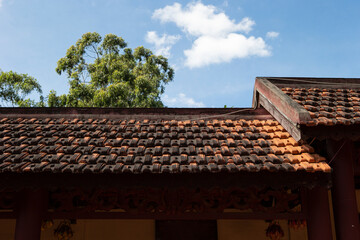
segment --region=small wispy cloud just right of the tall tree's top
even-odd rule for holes
[[[171,47],[180,39],[179,35],[163,34],[161,37],[156,32],[147,32],[145,40],[148,43],[155,45],[155,54],[170,57]]]

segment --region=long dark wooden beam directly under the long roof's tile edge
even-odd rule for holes
[[[325,172],[238,172],[238,173],[188,173],[188,174],[3,174],[0,189],[24,188],[249,188],[330,187],[331,174]]]

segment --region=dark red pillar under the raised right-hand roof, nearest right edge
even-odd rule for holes
[[[333,168],[332,200],[337,239],[359,240],[359,214],[356,205],[353,143],[349,140],[327,141]]]

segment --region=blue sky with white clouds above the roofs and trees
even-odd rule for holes
[[[256,76],[359,77],[360,1],[0,0],[0,69],[47,94],[56,62],[86,32],[169,58],[169,107],[249,107]]]

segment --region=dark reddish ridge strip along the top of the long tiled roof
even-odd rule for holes
[[[252,108],[0,108],[6,118],[136,118],[136,119],[273,119],[265,109]]]

